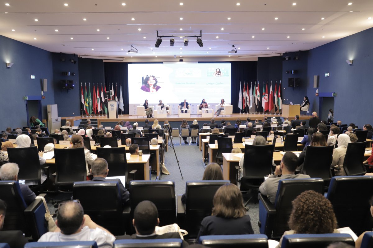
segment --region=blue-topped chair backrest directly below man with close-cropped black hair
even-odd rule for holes
[[[117,239],[113,248],[181,248],[181,239]]]

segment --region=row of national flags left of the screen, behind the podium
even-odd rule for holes
[[[101,94],[99,90],[99,84],[97,83],[97,91],[95,88],[95,84],[93,83],[93,97],[91,96],[91,84],[88,83],[88,91],[87,91],[87,84],[84,83],[85,91],[83,94],[83,85],[81,86],[81,111],[82,113],[86,115],[91,115],[93,112],[94,114],[100,114],[100,111],[102,114],[107,114],[107,101],[108,100],[116,100],[118,102],[117,97],[117,84],[114,91],[114,84],[112,84],[112,89],[110,90],[110,84],[109,84],[109,90],[106,91],[106,84],[104,86],[101,83]],[[123,104],[123,96],[122,96],[122,89],[121,85],[119,85],[119,109],[122,110],[122,113],[124,111],[124,104]]]

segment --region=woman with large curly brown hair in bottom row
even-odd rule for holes
[[[332,203],[323,194],[313,190],[304,191],[292,201],[292,205],[288,222],[291,230],[283,233],[276,248],[281,247],[285,235],[339,233]]]

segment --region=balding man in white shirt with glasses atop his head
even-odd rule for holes
[[[96,241],[100,248],[112,248],[115,241],[115,236],[84,214],[78,201],[60,203],[56,225],[54,232],[44,233],[38,242]]]

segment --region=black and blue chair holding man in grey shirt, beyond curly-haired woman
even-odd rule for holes
[[[323,194],[324,181],[321,178],[281,179],[274,204],[267,196],[259,194],[260,233],[267,235],[268,238],[279,239],[289,230],[288,220],[292,211],[292,201],[307,190]]]

